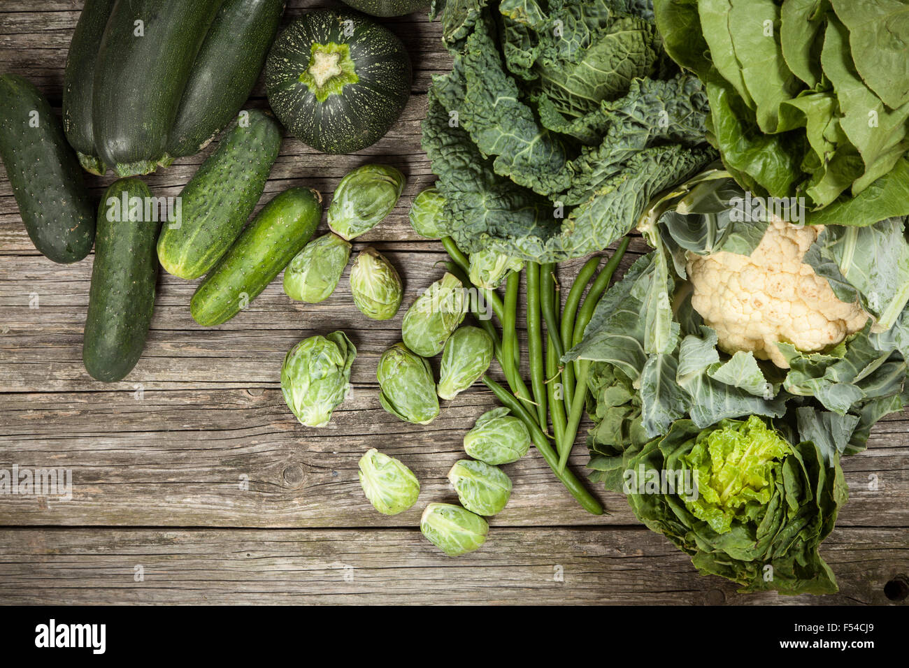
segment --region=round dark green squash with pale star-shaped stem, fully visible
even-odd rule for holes
[[[287,130],[323,153],[381,139],[410,96],[401,40],[366,15],[318,10],[288,25],[265,64],[268,102]]]

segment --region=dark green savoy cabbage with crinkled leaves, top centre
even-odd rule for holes
[[[715,159],[707,96],[650,0],[448,0],[423,145],[455,242],[558,262],[600,250]]]

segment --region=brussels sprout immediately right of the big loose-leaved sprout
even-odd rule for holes
[[[429,363],[405,344],[395,344],[382,354],[375,376],[379,400],[390,414],[414,424],[429,424],[439,414]]]

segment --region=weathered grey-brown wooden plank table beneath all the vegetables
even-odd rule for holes
[[[285,22],[312,4],[288,5]],[[81,8],[0,3],[0,70],[30,78],[55,107]],[[450,59],[424,15],[386,23],[415,66],[402,119],[358,155],[320,155],[288,137],[263,201],[291,185],[331,194],[365,162],[402,169],[399,206],[355,252],[371,244],[392,260],[406,305],[445,258],[406,213],[434,181],[420,120],[431,76]],[[259,85],[249,105],[265,104]],[[176,195],[210,151],[146,182]],[[100,196],[111,180],[89,184]],[[851,500],[822,548],[836,595],[736,594],[699,576],[621,496],[597,492],[610,514],[584,513],[535,452],[506,467],[514,494],[484,547],[448,558],[420,534],[419,514],[431,501],[456,501],[445,474],[494,398],[474,387],[426,427],[385,413],[375,364],[399,340],[404,309],[391,321],[367,320],[345,274],[323,304],[294,303],[275,281],[230,323],[204,329],[189,314],[196,282],[163,273],[145,354],[124,382],[101,384],[82,364],[92,258],[60,265],[37,254],[5,171],[0,255],[0,469],[73,476],[69,502],[0,495],[0,603],[891,603],[885,583],[909,573],[909,414],[879,424],[868,451],[844,462]],[[563,280],[579,266],[564,264]],[[309,429],[285,406],[281,362],[300,339],[335,329],[359,350],[355,396],[327,428]],[[370,447],[414,469],[423,490],[412,511],[385,517],[366,502],[356,464]],[[574,469],[585,461],[579,444]]]

